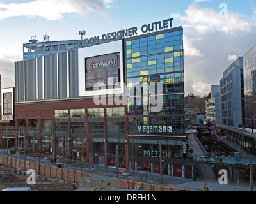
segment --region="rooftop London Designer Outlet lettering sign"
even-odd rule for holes
[[[173,21],[173,18],[170,18],[170,19],[163,20],[162,22],[157,21],[151,24],[144,24],[141,26],[141,32],[145,34],[148,32],[153,32],[161,29],[168,29],[169,27],[172,27],[172,21]],[[77,40],[74,42],[75,43],[74,48],[77,49],[77,48],[88,47],[92,45],[106,43],[109,41],[115,41],[115,40],[120,40],[120,39],[131,37],[131,36],[136,36],[136,35],[138,35],[138,27],[131,27],[128,29],[120,30],[120,31],[114,31],[107,34],[102,34],[101,38],[99,36],[94,36],[94,37],[86,38],[83,40]]]

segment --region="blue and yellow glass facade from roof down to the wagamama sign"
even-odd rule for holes
[[[157,126],[158,131],[146,135],[184,136],[182,28],[125,40],[125,51],[128,134],[145,135],[145,126]],[[155,99],[161,101],[157,111]],[[164,131],[170,126],[172,131]]]

